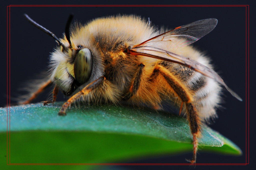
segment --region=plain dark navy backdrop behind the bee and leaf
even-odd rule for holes
[[[157,26],[175,28],[191,22],[216,18],[218,24],[208,35],[193,45],[211,57],[215,70],[226,84],[243,99],[242,102],[224,90],[222,106],[218,110],[219,118],[210,127],[237,144],[243,151],[242,156],[228,156],[200,152],[197,163],[246,163],[246,7],[11,7],[10,8],[10,98],[22,94],[18,89],[22,83],[36,78],[40,72],[47,70],[49,53],[56,42],[50,36],[29,24],[23,14],[28,14],[40,25],[61,38],[70,13],[82,23],[108,15],[136,14],[150,18]],[[159,27],[160,28],[160,27]],[[3,41],[5,39],[3,38]],[[6,46],[3,46],[3,50]],[[5,57],[5,56],[4,56]],[[6,80],[5,67],[1,80]],[[1,83],[1,107],[6,105],[6,81]],[[46,100],[48,93],[40,95],[38,100]],[[61,100],[62,95],[58,97]],[[15,100],[11,100],[15,103]],[[192,152],[180,155],[162,155],[137,160],[124,160],[119,163],[186,163],[185,158],[192,157]],[[253,153],[251,160],[255,158]],[[243,168],[244,166],[236,166]],[[136,169],[144,166],[119,166],[115,168]],[[156,166],[145,166],[148,169]],[[172,167],[162,166],[161,169]],[[184,166],[175,166],[183,169]],[[188,167],[187,167],[188,168]],[[197,166],[197,169],[216,169],[217,166]],[[234,166],[232,167],[235,168]],[[240,169],[239,168],[239,169]]]

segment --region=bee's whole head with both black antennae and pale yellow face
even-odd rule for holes
[[[84,47],[84,45],[72,44],[70,25],[73,15],[70,14],[66,24],[66,39],[57,38],[52,32],[37,24],[27,14],[24,15],[32,25],[44,31],[58,42],[59,47],[55,49],[50,58],[51,80],[56,82],[65,95],[71,95],[78,87],[90,79],[93,57],[89,48]]]

